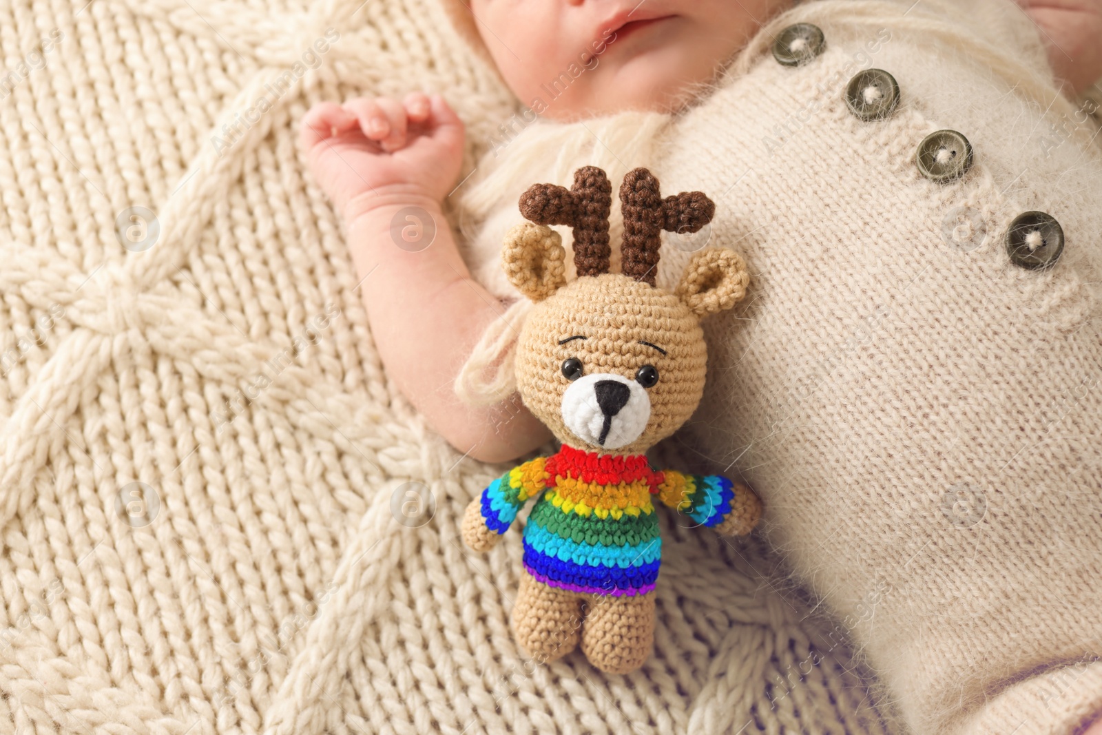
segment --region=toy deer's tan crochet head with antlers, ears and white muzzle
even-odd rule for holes
[[[663,198],[646,169],[620,186],[623,272],[609,273],[611,193],[605,172],[585,166],[570,190],[537,184],[520,197],[531,221],[509,230],[503,260],[536,306],[517,343],[517,386],[563,444],[642,454],[696,410],[706,361],[700,320],[734,306],[749,275],[735,251],[711,248],[673,293],[655,285],[661,231],[694,233],[715,205],[701,192]],[[573,228],[577,278],[569,284],[562,238],[548,225]]]

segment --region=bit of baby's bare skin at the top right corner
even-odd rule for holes
[[[1052,72],[1076,95],[1102,77],[1102,0],[1017,2],[1040,29]]]

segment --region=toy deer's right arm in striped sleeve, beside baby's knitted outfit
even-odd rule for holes
[[[761,517],[757,494],[723,475],[685,475],[666,469],[658,499],[722,536],[749,533]]]

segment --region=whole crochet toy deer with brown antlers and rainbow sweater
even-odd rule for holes
[[[635,169],[619,191],[623,272],[608,272],[611,192],[605,172],[585,166],[569,191],[537,184],[520,197],[531,221],[506,236],[503,260],[536,305],[517,343],[517,383],[562,448],[490,483],[466,509],[463,540],[490,549],[539,497],[523,530],[517,642],[543,661],[581,642],[598,669],[627,673],[653,644],[661,539],[651,497],[724,534],[749,533],[761,504],[719,475],[656,472],[644,454],[695,411],[705,370],[699,321],[745,295],[746,264],[733,250],[705,249],[674,293],[657,288],[661,231],[695,233],[715,205],[701,192],[662,198],[655,176]],[[570,283],[562,238],[548,225],[573,228]]]

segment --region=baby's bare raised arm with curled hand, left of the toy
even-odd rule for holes
[[[503,462],[540,446],[551,433],[516,394],[498,406],[471,408],[452,389],[475,343],[504,311],[471,278],[442,213],[458,175],[463,134],[463,123],[440,95],[412,93],[403,101],[315,105],[303,117],[300,143],[314,177],[344,216],[358,289],[388,375],[454,447]],[[402,213],[408,207],[417,208],[412,218]],[[435,237],[423,249],[415,238],[392,236],[433,226]],[[508,417],[504,424],[503,417]]]

